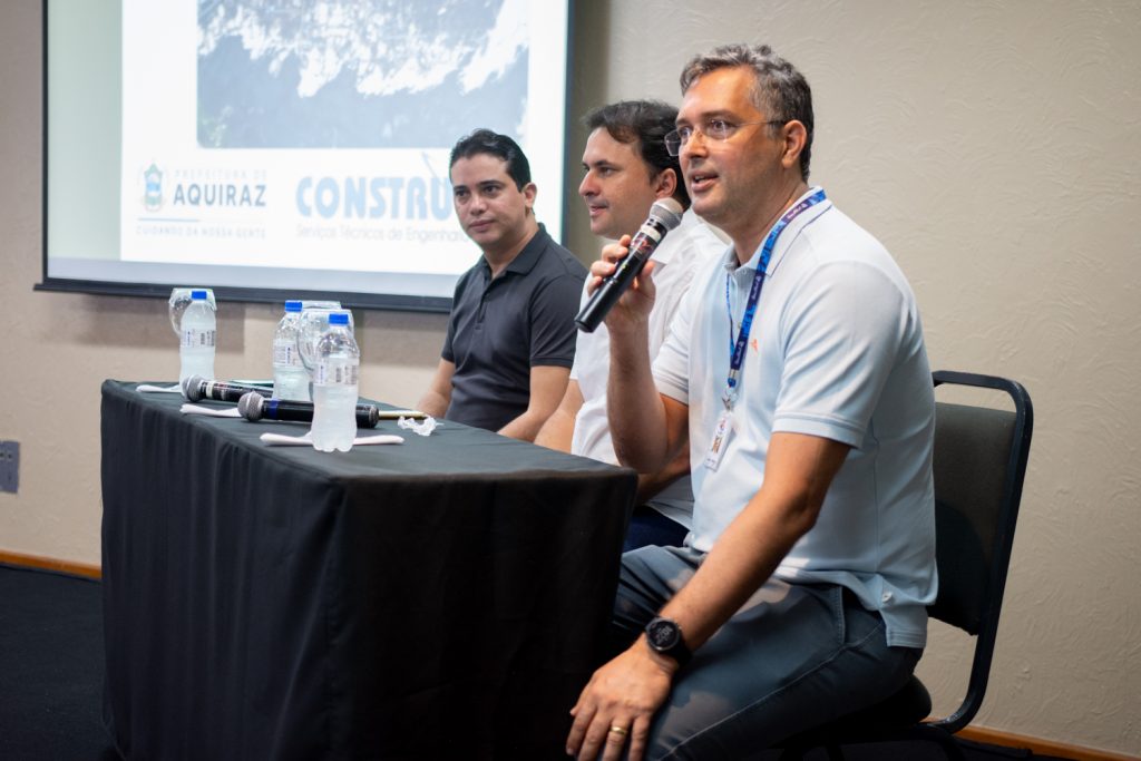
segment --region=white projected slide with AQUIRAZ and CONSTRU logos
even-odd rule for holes
[[[83,273],[115,259],[149,282],[171,266],[188,273],[176,284],[451,297],[478,250],[455,220],[448,152],[478,127],[523,145],[536,214],[560,235],[565,6],[123,0],[121,30],[119,250],[49,259]]]

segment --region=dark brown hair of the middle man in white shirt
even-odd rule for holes
[[[591,111],[582,121],[591,132],[601,127],[618,143],[637,143],[652,178],[672,169],[678,178],[673,197],[682,209],[688,209],[689,193],[681,178],[681,164],[665,149],[665,135],[674,129],[677,119],[678,110],[661,100],[621,100]]]

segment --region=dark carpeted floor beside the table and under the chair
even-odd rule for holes
[[[99,582],[0,564],[0,759],[118,759],[103,728],[102,705]],[[961,745],[968,761],[1065,761],[1022,748]],[[942,753],[933,746],[904,744],[845,748],[845,756],[936,761]],[[814,758],[825,755],[818,752]]]

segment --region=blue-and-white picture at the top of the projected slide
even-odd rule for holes
[[[521,3],[202,3],[204,148],[448,148],[456,124],[524,131]]]

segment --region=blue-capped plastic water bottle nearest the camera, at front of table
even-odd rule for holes
[[[346,311],[329,315],[329,330],[317,341],[313,379],[313,447],[348,452],[356,438],[357,373],[361,350]]]

